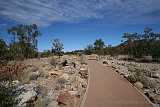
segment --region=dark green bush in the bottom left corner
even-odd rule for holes
[[[0,106],[12,107],[13,104],[14,100],[9,90],[3,86],[0,86]]]

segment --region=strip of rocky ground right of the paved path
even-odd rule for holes
[[[103,57],[100,63],[126,78],[152,103],[160,105],[160,64],[123,61]]]

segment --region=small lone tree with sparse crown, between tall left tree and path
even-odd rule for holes
[[[59,42],[59,39],[53,39],[52,44],[53,44],[52,52],[58,54],[58,56],[60,57],[61,51],[62,49],[64,49],[63,44]]]

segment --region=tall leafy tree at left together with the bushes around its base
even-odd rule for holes
[[[9,45],[9,55],[12,59],[34,58],[37,57],[36,39],[41,35],[36,24],[33,25],[17,25],[8,29],[8,34],[14,37]],[[16,41],[18,40],[18,41]]]

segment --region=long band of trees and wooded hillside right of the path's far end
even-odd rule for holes
[[[152,28],[146,28],[144,34],[124,33],[123,43],[118,46],[108,45],[102,39],[97,39],[93,44],[87,45],[84,53],[87,55],[128,55],[129,58],[144,58],[152,56],[153,60],[158,61],[160,58],[160,34],[152,32]]]

